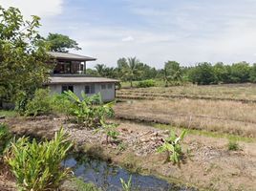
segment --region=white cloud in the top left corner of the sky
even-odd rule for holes
[[[28,18],[37,15],[42,18],[60,14],[63,0],[1,0],[1,6],[5,9],[15,7]]]

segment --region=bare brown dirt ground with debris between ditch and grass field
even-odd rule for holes
[[[166,155],[156,152],[169,132],[152,126],[117,120],[120,142],[107,144],[101,131],[80,129],[75,124],[65,123],[62,117],[0,120],[3,121],[9,123],[11,131],[17,135],[38,138],[51,138],[63,126],[80,150],[141,173],[202,190],[256,190],[256,143],[239,142],[241,150],[228,151],[224,138],[189,135],[183,143],[183,150],[189,152],[179,167],[165,162]],[[0,177],[0,188],[2,184]]]

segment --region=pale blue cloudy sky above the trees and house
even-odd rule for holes
[[[256,0],[0,0],[26,18],[41,17],[40,32],[69,35],[96,64],[116,66],[137,56],[162,68],[175,60],[256,62]]]

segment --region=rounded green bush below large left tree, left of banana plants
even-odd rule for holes
[[[51,96],[49,89],[38,89],[35,91],[32,100],[26,105],[26,116],[47,115],[52,112]]]

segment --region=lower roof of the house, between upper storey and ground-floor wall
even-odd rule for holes
[[[93,77],[86,75],[58,75],[51,76],[48,84],[80,84],[80,83],[117,83],[117,79]]]

